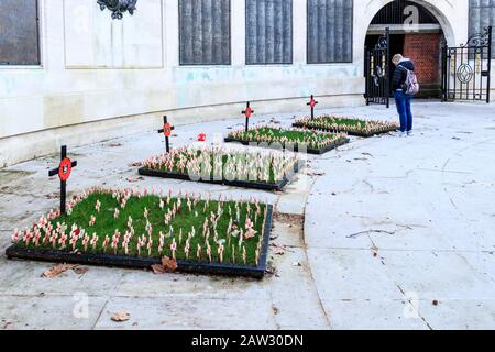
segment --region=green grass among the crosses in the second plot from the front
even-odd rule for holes
[[[201,155],[201,151],[197,151],[197,156],[199,157],[200,155]],[[209,179],[209,180],[211,180],[211,179],[217,179],[217,178],[221,178],[221,179],[229,179],[229,180],[243,180],[243,182],[253,182],[253,183],[266,183],[266,184],[277,184],[277,183],[279,183],[279,182],[282,182],[283,180],[283,177],[276,177],[276,173],[275,173],[275,170],[274,170],[274,167],[273,167],[273,163],[272,162],[270,162],[270,165],[268,166],[266,166],[266,165],[263,165],[263,167],[270,167],[270,176],[268,176],[268,179],[260,179],[258,177],[255,177],[255,176],[250,176],[250,175],[248,175],[248,178],[245,178],[245,179],[240,179],[240,178],[238,178],[238,177],[235,177],[234,179],[232,179],[232,176],[228,176],[228,175],[226,175],[226,165],[230,165],[230,164],[232,164],[233,163],[233,155],[237,155],[237,160],[238,161],[241,161],[242,162],[242,168],[243,168],[243,170],[249,170],[249,169],[251,169],[251,168],[248,168],[248,166],[245,166],[246,165],[246,160],[249,158],[249,157],[252,157],[253,155],[256,155],[256,154],[253,154],[253,155],[251,155],[251,154],[249,154],[249,153],[235,153],[235,154],[223,154],[223,155],[221,155],[221,164],[222,164],[222,175],[215,175],[215,167],[212,167],[212,170],[211,170],[211,173],[209,173],[209,174],[207,174],[207,175],[204,175],[202,173],[200,174],[200,176],[201,176],[201,178],[202,179],[205,179],[205,178],[207,178],[207,179]],[[216,165],[216,163],[218,162],[218,154],[211,154],[211,156],[210,156],[210,161],[211,161],[211,165],[212,166],[215,166]],[[152,170],[158,170],[158,172],[164,172],[164,173],[169,173],[169,172],[173,172],[173,173],[176,173],[176,174],[180,174],[180,175],[185,175],[185,176],[190,176],[189,174],[188,174],[188,172],[187,172],[187,168],[186,168],[186,170],[182,170],[179,167],[177,167],[177,162],[179,161],[179,155],[176,155],[175,156],[175,163],[174,163],[174,167],[172,168],[172,169],[168,169],[168,167],[166,167],[165,165],[162,165],[161,167],[157,167],[157,168],[155,168],[155,167],[147,167],[146,165],[144,166],[144,168],[146,168],[146,169],[152,169]],[[289,169],[287,169],[287,172],[292,172],[292,170],[294,170],[294,168],[295,168],[295,163],[296,163],[296,161],[294,161],[294,165],[290,165],[292,167],[289,168]],[[252,172],[252,175],[257,175],[257,174],[255,174],[254,172]],[[285,175],[285,176],[288,176],[288,175]]]

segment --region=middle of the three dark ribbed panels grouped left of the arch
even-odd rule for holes
[[[246,0],[246,64],[293,63],[293,1]]]

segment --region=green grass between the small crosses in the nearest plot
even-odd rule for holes
[[[166,198],[164,198],[166,199]],[[95,210],[95,205],[97,200],[100,200],[101,208],[100,213],[97,213]],[[138,256],[138,250],[136,250],[136,242],[138,237],[141,237],[143,233],[146,234],[145,231],[146,227],[146,220],[144,218],[144,208],[147,208],[150,211],[148,221],[153,227],[153,250],[151,253],[151,257],[163,257],[163,256],[169,256],[172,257],[172,251],[170,251],[170,244],[173,242],[173,239],[177,242],[177,252],[176,257],[177,260],[186,260],[186,254],[184,253],[184,246],[185,242],[187,240],[188,232],[195,227],[196,229],[196,235],[190,241],[190,254],[189,254],[189,261],[196,262],[196,251],[197,251],[197,244],[199,243],[202,246],[202,262],[209,262],[207,252],[206,252],[206,245],[205,245],[205,238],[202,237],[202,226],[205,222],[205,218],[208,216],[208,218],[211,216],[211,212],[217,212],[218,210],[218,201],[210,200],[209,206],[207,207],[206,212],[204,212],[204,207],[206,204],[206,200],[200,200],[196,208],[193,208],[193,211],[189,212],[189,209],[187,207],[186,200],[183,198],[182,200],[182,212],[178,213],[173,221],[170,222],[170,226],[174,228],[174,235],[170,238],[166,238],[165,242],[165,250],[163,254],[158,253],[158,245],[160,245],[160,231],[167,234],[169,233],[169,226],[166,226],[164,222],[164,216],[168,211],[168,209],[172,209],[174,204],[177,202],[177,199],[172,199],[169,205],[166,205],[165,201],[165,208],[162,210],[160,208],[160,200],[161,198],[158,196],[143,196],[140,198],[138,197],[131,197],[125,206],[124,209],[121,209],[119,207],[118,200],[112,198],[112,195],[108,194],[92,194],[87,199],[82,200],[80,204],[78,204],[72,211],[69,216],[61,216],[52,221],[52,224],[54,226],[54,229],[56,228],[56,223],[66,223],[68,226],[68,229],[66,231],[67,235],[70,232],[70,228],[73,224],[77,224],[79,229],[85,229],[86,233],[91,238],[92,233],[97,233],[99,235],[99,242],[94,251],[91,245],[88,245],[88,251],[86,253],[94,253],[94,254],[103,254],[103,248],[102,243],[105,241],[105,235],[108,234],[110,237],[110,243],[111,243],[111,237],[113,235],[116,230],[119,230],[121,232],[121,242],[119,245],[118,253],[119,255],[125,255],[124,250],[121,248],[123,235],[128,229],[128,218],[129,216],[133,219],[133,227],[135,230],[135,235],[132,238],[129,244],[129,255],[130,256]],[[238,239],[231,237],[231,245],[229,245],[229,239],[227,237],[227,229],[230,221],[230,215],[229,215],[229,206],[231,206],[232,215],[234,218],[234,223],[237,226],[240,226],[244,229],[245,220],[246,220],[246,213],[248,213],[248,204],[240,204],[240,222],[237,222],[237,210],[235,210],[235,202],[233,201],[227,201],[223,202],[224,211],[221,216],[220,220],[218,221],[217,231],[219,234],[219,239],[226,239],[224,243],[224,252],[223,252],[223,264],[233,264],[232,261],[232,244],[235,244],[235,257],[237,257],[237,264],[243,264],[242,261],[242,251],[239,250],[238,245]],[[120,217],[118,219],[114,219],[113,213],[116,208],[120,209]],[[249,266],[255,266],[256,260],[255,260],[255,251],[258,245],[260,238],[263,238],[263,229],[264,229],[264,213],[266,205],[260,204],[262,213],[258,216],[257,221],[254,224],[254,229],[257,231],[256,235],[252,239],[245,240],[243,242],[243,245],[245,245],[246,249],[246,257],[248,257],[248,265]],[[195,215],[195,209],[198,211],[198,217]],[[254,220],[254,212],[255,207],[254,205],[251,206],[251,220]],[[94,227],[89,226],[89,220],[91,215],[96,216],[97,221]],[[212,228],[212,226],[210,224]],[[182,245],[178,244],[179,242],[179,231],[183,229],[183,242]],[[211,229],[210,229],[211,230]],[[245,231],[245,230],[244,230]],[[210,234],[210,245],[212,249],[212,260],[215,263],[219,263],[219,255],[218,255],[218,244],[213,241],[215,233],[211,230]],[[44,237],[44,232],[42,232],[42,240]],[[42,242],[42,240],[40,242]],[[67,240],[67,249],[65,251],[72,251],[72,245],[69,244],[70,237]],[[19,246],[25,246],[25,244],[22,242],[18,243]],[[34,248],[34,244],[30,243],[30,248]],[[57,244],[58,248],[58,244]],[[47,243],[45,245],[40,245],[38,249],[50,249],[52,250],[52,244]],[[81,243],[81,240],[78,241],[77,245],[78,251],[84,252],[84,245]],[[111,245],[107,249],[107,254],[114,254],[113,249],[111,249]],[[143,257],[148,257],[147,249],[146,246],[142,248],[141,255]]]

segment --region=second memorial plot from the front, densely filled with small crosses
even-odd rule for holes
[[[144,176],[278,190],[301,165],[295,153],[188,146],[148,158],[139,172]]]

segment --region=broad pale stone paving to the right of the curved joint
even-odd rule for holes
[[[324,176],[311,189],[305,234],[333,328],[495,327],[495,110],[435,102],[415,110],[413,138],[354,140],[317,163]],[[409,297],[420,302],[417,321],[404,319]]]

